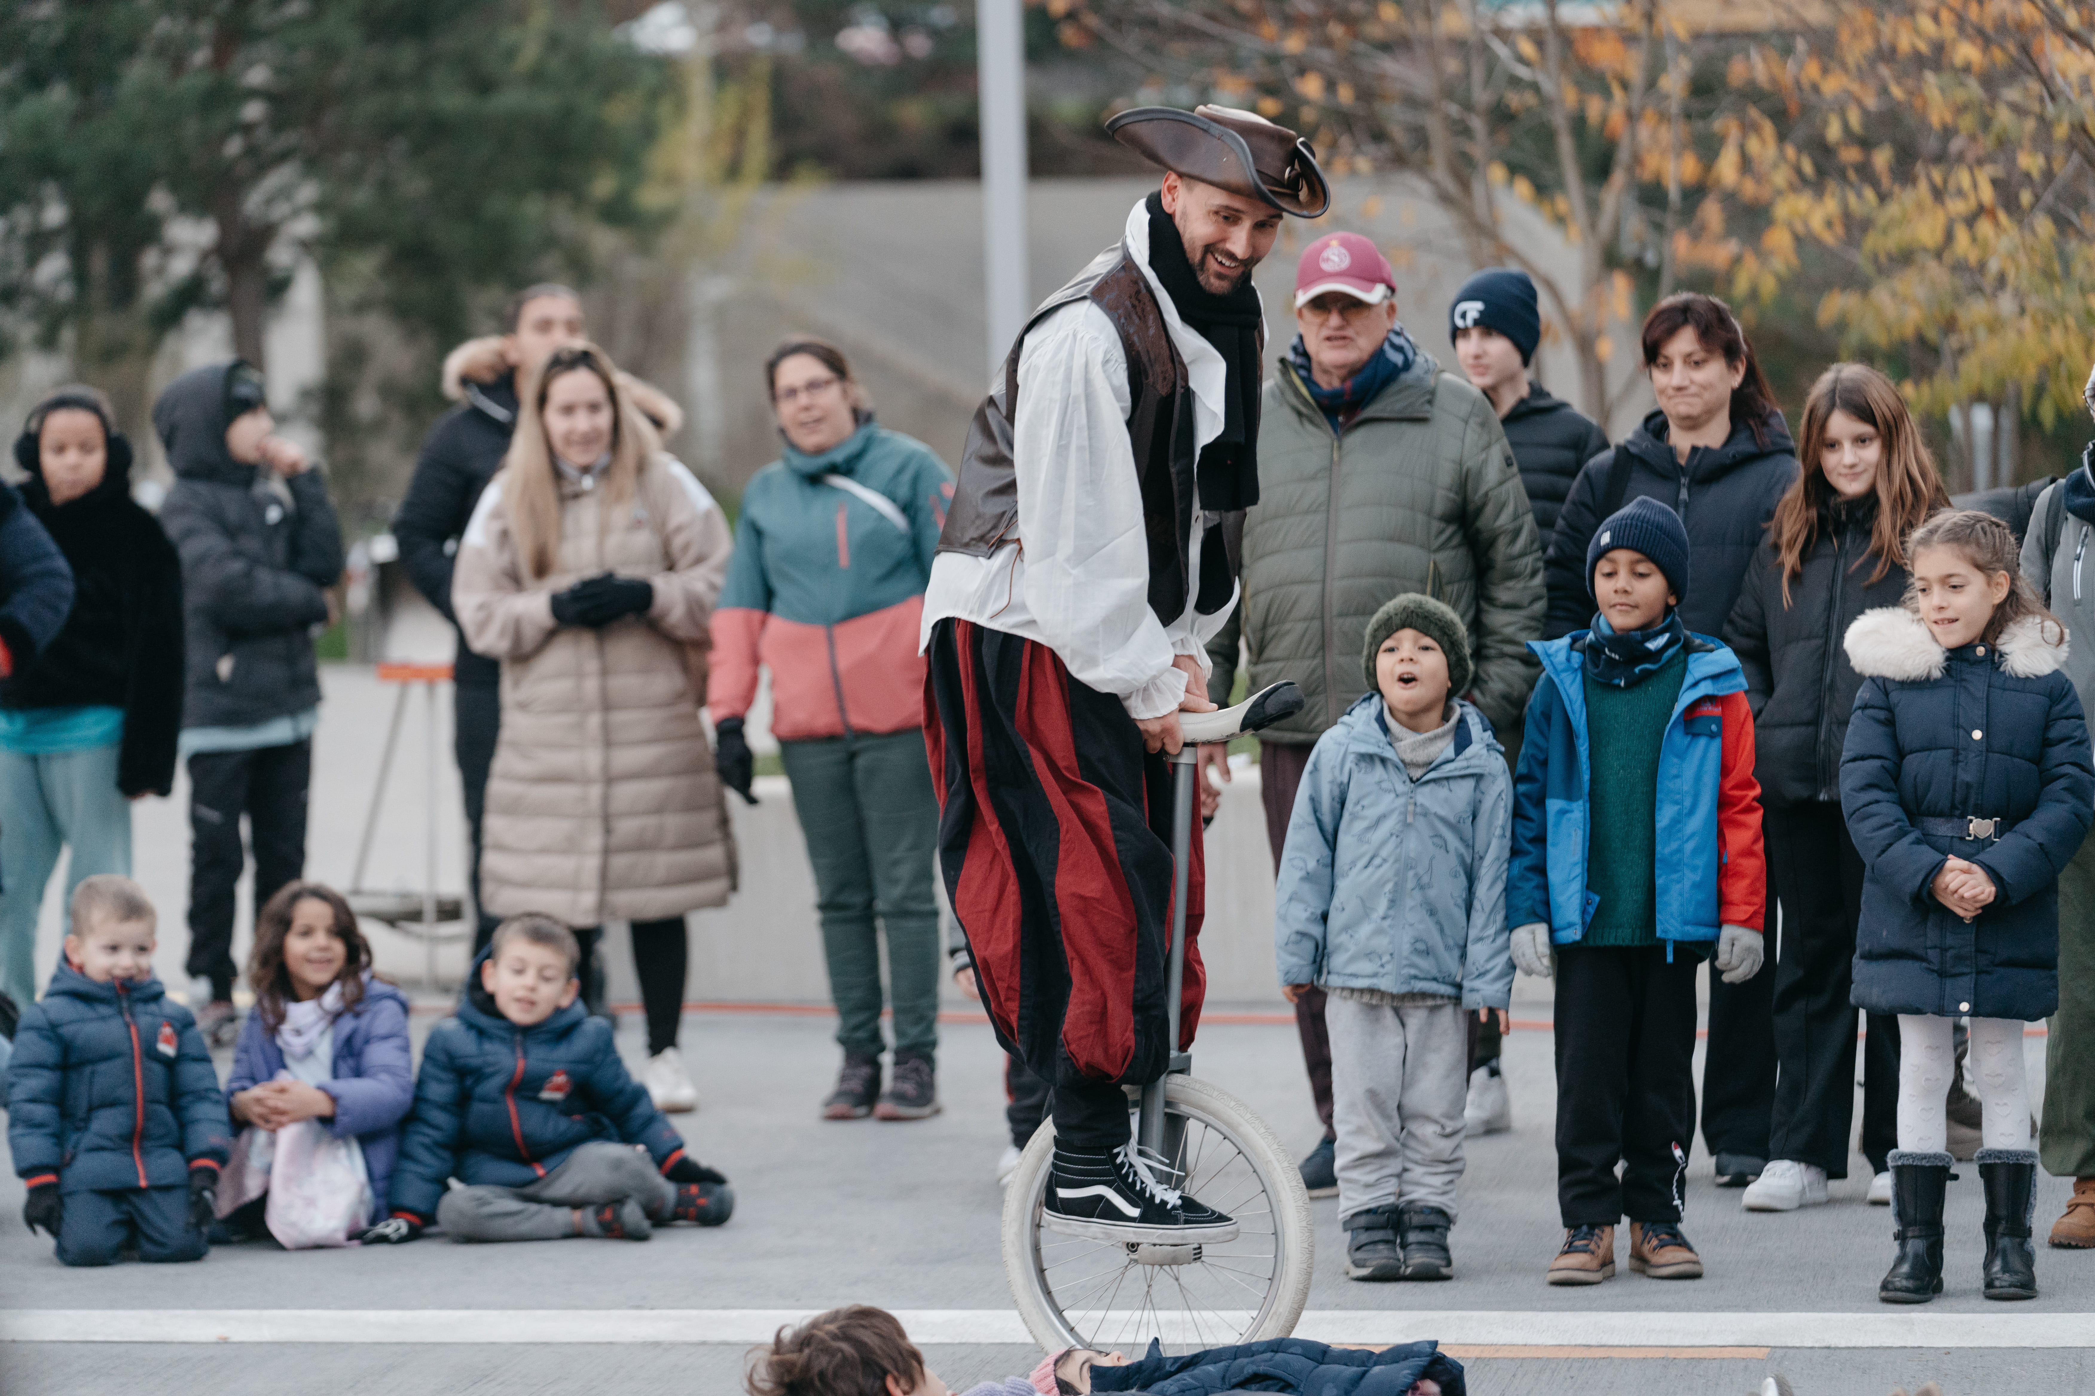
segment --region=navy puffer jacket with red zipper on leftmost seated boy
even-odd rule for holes
[[[226,1097],[189,1009],[159,980],[98,984],[65,961],[21,1015],[6,1103],[6,1143],[27,1187],[184,1187],[191,1168],[216,1172],[233,1147]]]

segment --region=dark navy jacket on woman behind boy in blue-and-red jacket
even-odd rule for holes
[[[1557,515],[1550,538],[1546,638],[1559,638],[1592,624],[1592,590],[1586,580],[1586,544],[1605,517],[1607,477],[1619,452],[1630,454],[1628,488],[1617,502],[1651,496],[1670,506],[1689,530],[1689,594],[1680,599],[1680,620],[1695,634],[1722,634],[1739,582],[1760,546],[1774,502],[1798,477],[1795,442],[1781,412],[1762,423],[1766,444],[1751,427],[1733,423],[1730,440],[1716,450],[1697,446],[1686,463],[1666,444],[1666,414],[1653,412],[1622,446],[1586,463]]]

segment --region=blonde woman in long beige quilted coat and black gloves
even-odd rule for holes
[[[729,546],[612,360],[572,345],[520,393],[450,586],[465,643],[503,663],[482,896],[574,925],[587,988],[603,923],[633,923],[662,1109],[698,1103],[677,1055],[683,917],[733,887],[696,680]]]

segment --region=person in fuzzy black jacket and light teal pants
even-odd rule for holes
[[[44,883],[132,871],[130,800],[174,785],[182,724],[182,567],[130,498],[130,442],[92,387],[44,398],[15,442],[23,500],[73,569],[73,609],[0,684],[0,990],[36,996]]]

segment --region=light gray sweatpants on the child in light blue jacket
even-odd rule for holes
[[[1460,1005],[1381,1007],[1324,1000],[1332,1124],[1339,1130],[1339,1218],[1425,1203],[1456,1216],[1469,1028]]]

